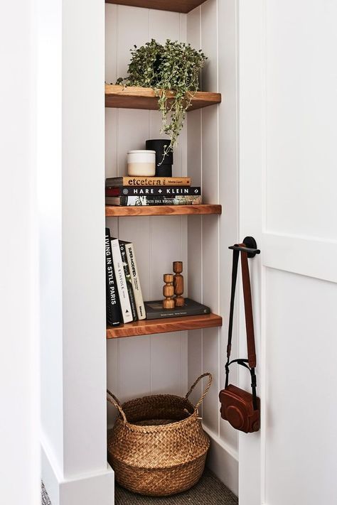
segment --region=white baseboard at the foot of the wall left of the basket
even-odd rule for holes
[[[64,479],[41,444],[41,472],[52,505],[114,505],[114,472],[108,464],[102,472]]]

